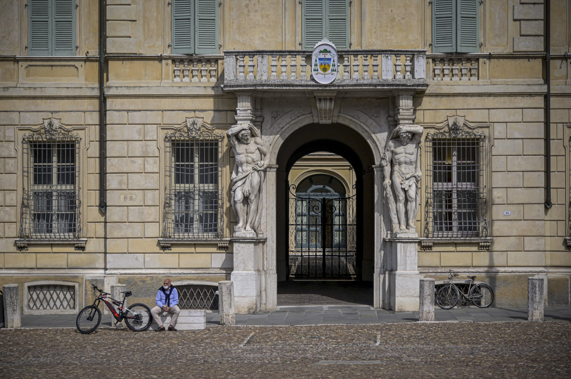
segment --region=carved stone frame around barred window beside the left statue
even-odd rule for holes
[[[189,131],[188,125],[195,124]],[[192,130],[194,128],[194,131]],[[231,212],[230,207],[230,175],[234,165],[234,158],[231,157],[231,149],[226,136],[226,131],[230,128],[227,124],[208,124],[204,122],[204,117],[186,117],[186,121],[180,125],[158,125],[157,131],[157,146],[159,149],[159,180],[160,180],[160,201],[159,201],[159,214],[160,223],[159,229],[161,230],[161,237],[158,238],[160,248],[163,251],[172,250],[172,244],[217,244],[217,250],[227,251],[230,247],[231,236],[231,222],[235,222],[234,214]],[[164,209],[167,193],[167,174],[166,174],[166,151],[165,151],[165,138],[172,133],[187,133],[191,138],[196,133],[216,133],[223,136],[220,144],[222,146],[222,177],[220,178],[219,188],[223,190],[223,233],[222,238],[163,238],[164,230]]]

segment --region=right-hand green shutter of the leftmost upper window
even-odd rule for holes
[[[75,55],[75,0],[53,0],[53,55]]]

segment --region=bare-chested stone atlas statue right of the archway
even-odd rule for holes
[[[415,219],[420,205],[419,182],[422,176],[419,147],[423,131],[420,125],[397,126],[391,133],[381,162],[385,199],[395,235],[416,233]]]

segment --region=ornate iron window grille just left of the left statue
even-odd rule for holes
[[[222,238],[222,142],[201,128],[165,136],[166,194],[163,238]]]

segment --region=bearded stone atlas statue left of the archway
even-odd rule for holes
[[[231,190],[232,209],[238,218],[234,237],[257,237],[262,221],[264,171],[270,164],[269,150],[251,123],[236,124],[227,133],[236,159]]]

